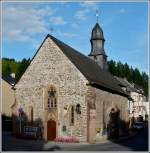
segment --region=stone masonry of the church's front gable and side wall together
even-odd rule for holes
[[[48,110],[47,99],[50,86],[57,94],[57,108]],[[117,106],[121,118],[127,120],[126,97],[94,88],[65,56],[60,48],[48,37],[38,50],[29,67],[15,86],[16,101],[13,113],[18,115],[20,106],[29,118],[29,107],[33,107],[34,120],[41,120],[43,138],[47,140],[47,122],[56,121],[56,136],[76,136],[87,141],[90,131],[89,110],[96,109],[96,125],[102,128],[108,121],[110,109]],[[70,108],[81,106],[81,114],[74,113],[74,125],[70,124]],[[63,130],[65,126],[66,130]],[[96,130],[96,129],[95,129]],[[93,132],[94,133],[94,132]],[[95,137],[95,136],[93,136]]]

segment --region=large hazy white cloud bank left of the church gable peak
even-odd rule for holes
[[[50,17],[53,10],[48,6],[40,9],[8,6],[3,8],[2,13],[4,39],[31,41],[35,34],[48,33],[44,17]]]

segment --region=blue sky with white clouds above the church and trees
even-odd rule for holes
[[[2,57],[32,58],[48,33],[88,55],[96,10],[108,60],[148,73],[146,2],[3,2]]]

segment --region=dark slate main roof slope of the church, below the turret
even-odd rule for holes
[[[55,37],[51,35],[48,35],[47,37],[50,37],[55,42],[55,44],[62,50],[62,52],[70,59],[70,61],[78,68],[78,70],[90,83],[123,94],[124,96],[128,96],[128,94],[121,89],[120,82],[109,72],[103,71],[95,61],[81,54]]]

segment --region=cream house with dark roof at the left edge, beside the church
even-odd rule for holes
[[[2,75],[2,115],[11,117],[12,109],[11,106],[14,104],[15,93],[13,86],[16,83],[15,75]]]

